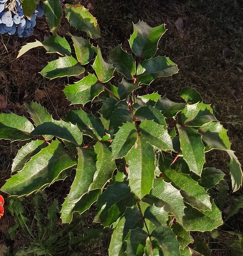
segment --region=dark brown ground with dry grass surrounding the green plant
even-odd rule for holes
[[[117,44],[123,44],[123,48],[129,50],[127,39],[132,33],[132,22],[143,20],[151,27],[166,23],[168,30],[159,43],[158,55],[169,56],[178,64],[180,71],[172,77],[156,80],[141,93],[159,91],[171,100],[180,100],[183,87],[197,89],[206,103],[212,103],[216,117],[229,130],[232,149],[243,164],[242,0],[87,0],[81,1],[81,4],[91,4],[89,7],[94,8],[90,11],[98,19],[101,38],[92,42],[99,44],[104,57]],[[63,36],[67,30],[74,35],[84,35],[63,19],[59,35]],[[8,35],[0,38],[0,94],[7,98],[8,104],[3,112],[9,109],[26,115],[23,107],[26,99],[41,103],[54,118],[64,117],[71,108],[62,89],[74,79],[50,81],[38,74],[47,61],[56,56],[45,54],[43,49],[38,48],[15,59],[24,43],[35,39],[42,41],[45,35],[49,32],[42,18],[37,22],[34,35],[28,38]],[[12,159],[20,146],[17,142],[0,142],[1,186],[9,177]],[[226,155],[215,152],[208,160],[211,165],[227,172],[229,159]],[[237,193],[242,194],[242,191]],[[242,212],[236,217],[231,218],[227,227],[222,229],[242,232]],[[229,255],[223,239],[205,237],[210,242],[209,247],[216,249],[212,255]],[[85,254],[99,252],[106,255],[107,241],[101,243],[97,247],[103,246],[101,250],[86,251]]]

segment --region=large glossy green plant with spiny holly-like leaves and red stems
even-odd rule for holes
[[[94,221],[114,229],[110,256],[187,256],[190,231],[223,224],[214,197],[225,174],[204,167],[208,151],[226,151],[232,190],[242,183],[227,130],[197,91],[184,88],[182,103],[157,92],[138,96],[139,88],[157,77],[178,72],[169,58],[155,57],[165,31],[164,25],[152,28],[139,21],[129,39],[132,55],[118,45],[108,62],[100,48],[71,34],[75,57],[67,40],[57,35],[26,44],[18,57],[36,46],[61,55],[43,68],[44,77],[83,74],[63,90],[71,104],[99,101],[101,108],[95,115],[79,109],[64,120],[54,120],[41,105],[26,101],[33,122],[13,113],[0,114],[2,139],[32,139],[14,158],[12,177],[1,190],[29,195],[64,180],[75,168],[61,219],[69,223],[73,212],[82,214],[95,203]],[[90,63],[93,72],[87,71]],[[114,72],[123,76],[115,85]]]

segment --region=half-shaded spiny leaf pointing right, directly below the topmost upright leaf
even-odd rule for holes
[[[172,76],[178,72],[177,65],[167,57],[156,57],[139,63],[137,68],[137,82],[151,84],[157,77]]]

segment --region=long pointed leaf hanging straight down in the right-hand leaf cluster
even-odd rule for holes
[[[180,147],[183,158],[190,171],[201,175],[205,163],[204,144],[201,135],[192,127],[176,125],[180,136]]]

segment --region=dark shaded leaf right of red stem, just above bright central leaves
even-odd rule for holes
[[[146,106],[146,107],[144,106],[139,108],[135,112],[135,116],[140,121],[153,120],[154,122],[165,126],[165,128],[167,127],[165,117],[161,114],[161,112],[158,109],[153,108],[151,106]]]

